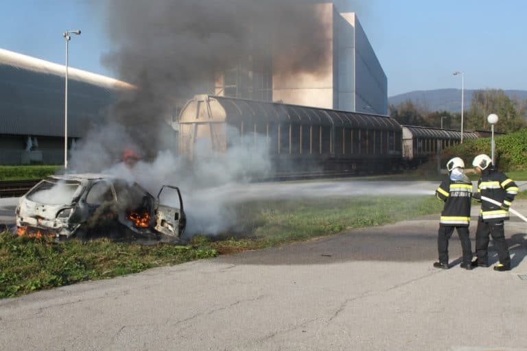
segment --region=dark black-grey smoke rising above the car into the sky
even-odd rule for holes
[[[174,101],[213,93],[219,72],[271,53],[274,71],[316,75],[329,60],[325,19],[297,1],[110,0],[100,10],[115,48],[103,61],[138,87],[110,117],[145,156],[163,149]]]

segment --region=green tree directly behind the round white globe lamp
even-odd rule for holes
[[[476,90],[472,93],[470,110],[465,120],[465,128],[490,130],[487,116],[495,113],[500,118],[494,130],[496,132],[515,132],[527,125],[524,118],[524,105],[505,95],[502,89]],[[523,114],[523,115],[522,115]]]

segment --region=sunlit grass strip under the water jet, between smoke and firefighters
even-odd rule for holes
[[[213,244],[220,253],[227,244],[233,244],[234,251],[259,249],[441,211],[441,202],[432,196],[408,199],[345,197],[243,204],[237,208],[241,230],[224,233]]]

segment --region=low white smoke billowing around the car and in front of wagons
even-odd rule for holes
[[[166,128],[171,128],[166,125]],[[139,160],[128,167],[119,160],[117,145],[130,141],[125,128],[117,124],[94,130],[81,146],[72,152],[69,172],[105,173],[128,182],[137,182],[156,196],[163,185],[177,186],[183,196],[187,215],[187,234],[219,234],[236,224],[237,218],[229,204],[231,189],[246,185],[256,178],[272,174],[268,141],[264,136],[242,139],[235,128],[227,127],[229,148],[225,153],[212,152],[210,141],[198,140],[194,160],[177,156],[169,150],[159,152],[151,162]],[[117,143],[114,149],[113,143]],[[163,204],[178,207],[174,191],[163,191]],[[237,202],[237,199],[235,199]]]

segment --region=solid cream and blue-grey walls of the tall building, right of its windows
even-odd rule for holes
[[[338,13],[332,3],[315,5],[323,16],[330,60],[323,74],[273,72],[272,99],[288,104],[377,114],[388,113],[388,82],[354,12]]]

